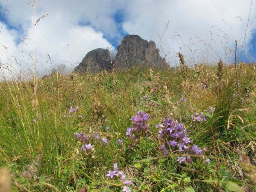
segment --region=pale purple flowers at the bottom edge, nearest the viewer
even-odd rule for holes
[[[131,180],[126,179],[126,175],[118,170],[117,163],[114,162],[114,168],[111,171],[108,171],[108,174],[106,174],[106,177],[110,177],[110,179],[114,180],[121,180],[123,185],[123,192],[131,192],[130,186],[133,185]]]

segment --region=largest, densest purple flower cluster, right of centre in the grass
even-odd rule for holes
[[[185,152],[185,154],[204,155],[206,148],[200,149],[197,145],[191,146],[193,143],[188,138],[187,131],[182,123],[177,120],[174,121],[172,116],[168,119],[164,119],[162,124],[156,124],[156,128],[162,128],[159,131],[159,138],[162,138],[163,143],[160,146],[160,150],[164,155],[168,155],[170,151],[179,151],[179,153]],[[192,158],[178,157],[177,161],[181,164],[183,162],[192,163]]]

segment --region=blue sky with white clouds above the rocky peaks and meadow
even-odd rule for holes
[[[235,40],[238,60],[255,62],[255,7],[256,0],[0,0],[0,73],[71,72],[90,50],[114,57],[127,34],[156,42],[170,66],[177,52],[189,66],[231,64]]]

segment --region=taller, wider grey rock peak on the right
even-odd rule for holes
[[[116,61],[119,68],[132,66],[166,67],[165,58],[159,54],[154,41],[148,42],[138,35],[127,35],[117,48]]]

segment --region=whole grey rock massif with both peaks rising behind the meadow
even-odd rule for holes
[[[108,49],[94,49],[86,54],[82,62],[74,69],[75,72],[100,72],[104,69],[111,70],[114,64],[125,69],[133,66],[165,68],[166,61],[156,49],[154,41],[148,42],[138,35],[127,35],[117,48],[115,61],[110,60]]]

